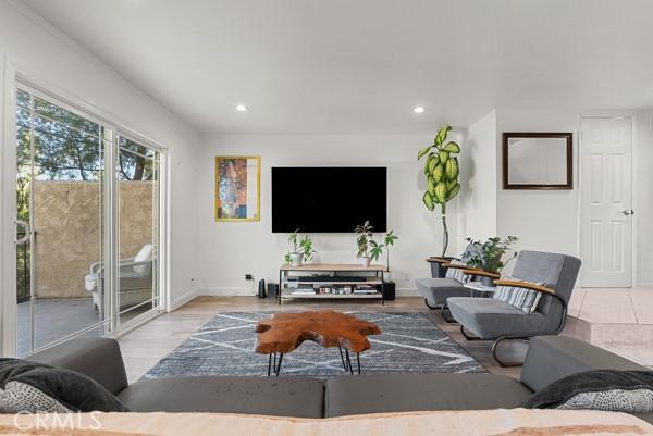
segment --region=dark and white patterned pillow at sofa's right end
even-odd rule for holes
[[[538,390],[521,406],[653,413],[653,371],[595,370],[572,374]]]

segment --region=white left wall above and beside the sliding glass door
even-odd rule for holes
[[[106,32],[111,32],[110,25]],[[173,302],[183,301],[190,295],[196,264],[197,132],[14,1],[0,0],[0,54],[27,76],[85,100],[169,149],[171,295]],[[3,211],[3,219],[11,220],[12,213]],[[11,244],[11,235],[3,237],[3,245]]]

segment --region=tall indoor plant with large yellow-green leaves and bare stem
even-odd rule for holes
[[[438,130],[432,145],[420,150],[417,160],[424,159],[424,176],[427,177],[427,190],[422,201],[428,210],[435,210],[440,204],[442,220],[442,257],[446,256],[448,247],[448,228],[446,226],[446,203],[452,201],[460,191],[458,182],[459,166],[458,153],[460,146],[454,141],[447,141],[451,126],[444,126]]]

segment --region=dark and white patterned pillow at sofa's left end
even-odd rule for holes
[[[102,385],[74,371],[0,359],[0,413],[128,412]]]

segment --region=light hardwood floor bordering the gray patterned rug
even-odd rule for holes
[[[439,311],[429,310],[422,298],[401,297],[381,306],[378,301],[288,301],[278,306],[272,299],[256,297],[198,297],[174,312],[165,313],[119,339],[125,359],[130,382],[135,382],[160,359],[186,340],[190,334],[220,312],[249,311],[304,311],[333,309],[360,312],[422,312],[441,329],[460,344],[488,371],[518,377],[519,368],[501,368],[494,363],[490,353],[490,342],[467,341],[459,332],[458,324],[446,323]],[[507,359],[522,354],[523,345],[506,347]]]

